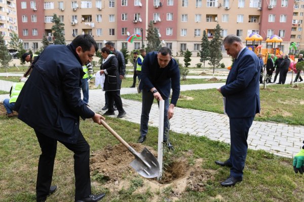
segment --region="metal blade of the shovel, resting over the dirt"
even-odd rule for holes
[[[144,147],[138,155],[134,156],[135,159],[130,163],[130,166],[137,173],[145,178],[155,178],[159,175],[158,160],[147,148]]]

